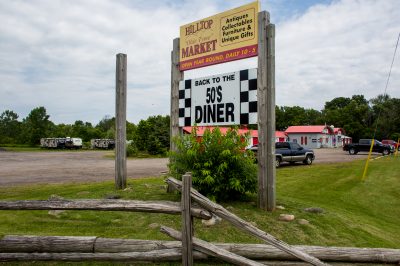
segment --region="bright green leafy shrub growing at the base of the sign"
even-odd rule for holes
[[[192,172],[193,186],[214,200],[230,200],[255,192],[257,165],[245,150],[246,142],[236,129],[222,135],[219,128],[206,130],[202,138],[196,127],[190,135],[176,138],[177,152],[170,152],[170,174],[181,179]]]

